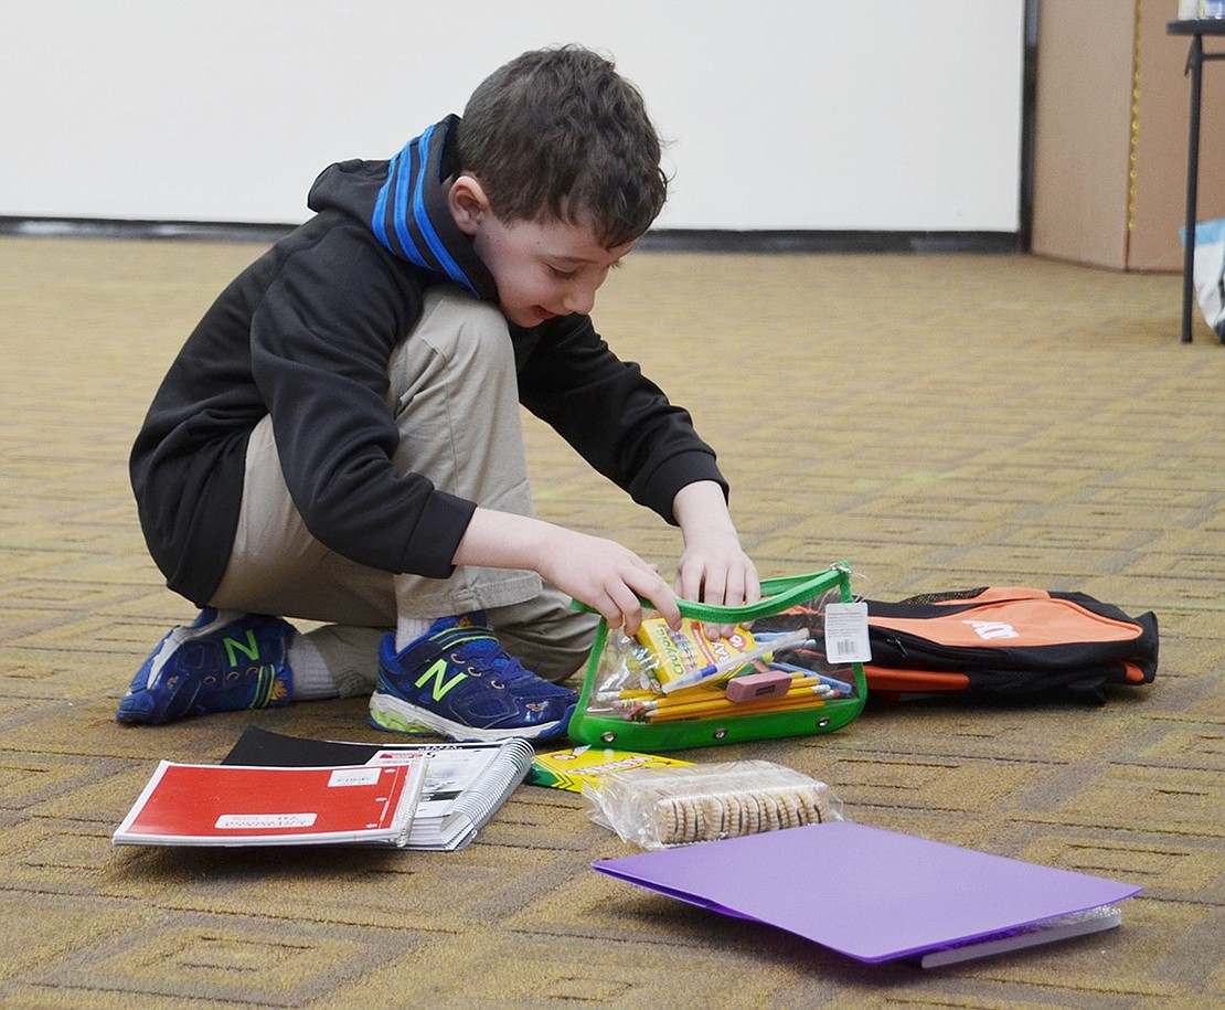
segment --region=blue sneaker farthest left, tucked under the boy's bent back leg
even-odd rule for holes
[[[163,723],[185,716],[289,704],[293,625],[263,614],[201,610],[173,629],[137,670],[115,718]]]

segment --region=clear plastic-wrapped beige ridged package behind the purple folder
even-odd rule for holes
[[[638,769],[584,786],[592,819],[642,848],[842,820],[824,782],[773,761]]]

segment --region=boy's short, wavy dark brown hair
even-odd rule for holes
[[[605,249],[646,232],[668,196],[642,94],[578,45],[495,70],[468,101],[458,147],[497,217],[590,224]]]

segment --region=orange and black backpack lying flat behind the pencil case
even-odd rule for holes
[[[1001,586],[867,601],[869,691],[970,691],[1009,699],[1152,683],[1158,628],[1084,593]]]

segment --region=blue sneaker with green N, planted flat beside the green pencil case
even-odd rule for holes
[[[453,740],[564,735],[578,695],[524,669],[484,620],[443,618],[398,653],[396,636],[385,635],[371,724]]]

